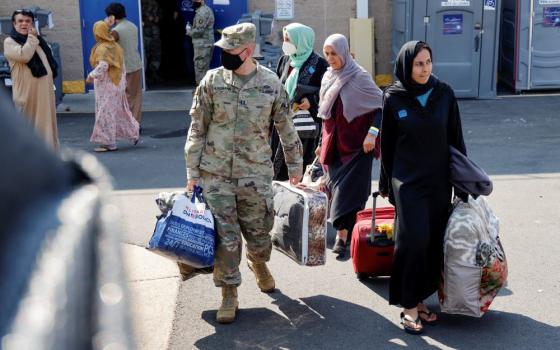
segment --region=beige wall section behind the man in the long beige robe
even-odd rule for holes
[[[83,80],[82,34],[78,0],[0,0],[0,16],[11,16],[16,9],[39,6],[52,11],[54,28],[44,28],[47,41],[60,44],[62,78]],[[0,35],[3,51],[4,35]]]

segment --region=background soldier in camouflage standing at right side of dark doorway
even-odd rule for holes
[[[187,32],[192,38],[194,48],[194,74],[196,83],[200,83],[210,67],[214,44],[214,12],[204,0],[194,0],[196,8],[192,28]]]

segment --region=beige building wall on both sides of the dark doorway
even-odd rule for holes
[[[249,11],[275,11],[274,0],[249,0]],[[0,0],[0,16],[10,16],[14,9],[39,6],[53,12],[55,27],[44,29],[48,41],[61,48],[62,75],[66,82],[83,80],[83,53],[78,0]],[[349,36],[350,18],[356,17],[355,0],[294,0],[294,19],[274,21],[270,40],[280,44],[282,27],[301,22],[315,30],[315,50],[322,52],[326,37],[333,33]],[[392,0],[369,0],[369,16],[375,21],[375,72],[391,74],[391,8]],[[5,36],[0,35],[0,51]],[[78,89],[79,91],[79,89]]]

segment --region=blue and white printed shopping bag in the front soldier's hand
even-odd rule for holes
[[[196,186],[190,197],[178,195],[158,219],[148,249],[196,268],[209,267],[214,265],[215,236],[214,217]]]

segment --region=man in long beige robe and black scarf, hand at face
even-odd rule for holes
[[[37,133],[58,149],[54,78],[58,65],[52,51],[33,27],[35,16],[28,10],[12,14],[12,32],[4,40],[13,81],[12,99]]]

